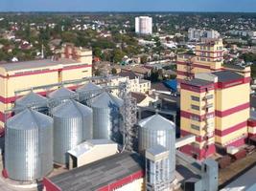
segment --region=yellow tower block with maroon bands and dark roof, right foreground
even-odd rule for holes
[[[216,146],[240,147],[248,133],[250,76],[220,71],[196,74],[180,85],[181,136],[197,136],[197,142],[181,151],[197,159],[213,155]],[[251,128],[253,129],[253,127]]]

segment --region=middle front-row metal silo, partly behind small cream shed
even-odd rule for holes
[[[53,109],[54,161],[68,162],[67,151],[85,139],[92,138],[92,110],[74,100],[67,100]]]

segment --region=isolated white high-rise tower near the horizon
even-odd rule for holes
[[[140,16],[135,18],[135,32],[140,34],[152,33],[152,18],[149,16]]]

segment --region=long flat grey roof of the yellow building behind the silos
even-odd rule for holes
[[[0,64],[0,68],[4,68],[6,71],[17,71],[17,70],[23,70],[23,69],[55,66],[58,64],[65,65],[65,64],[74,64],[74,63],[78,63],[78,61],[74,59],[67,59],[67,58],[60,58],[58,60],[41,59],[41,60],[32,60],[32,61],[25,61],[25,62],[4,63],[4,64]]]

